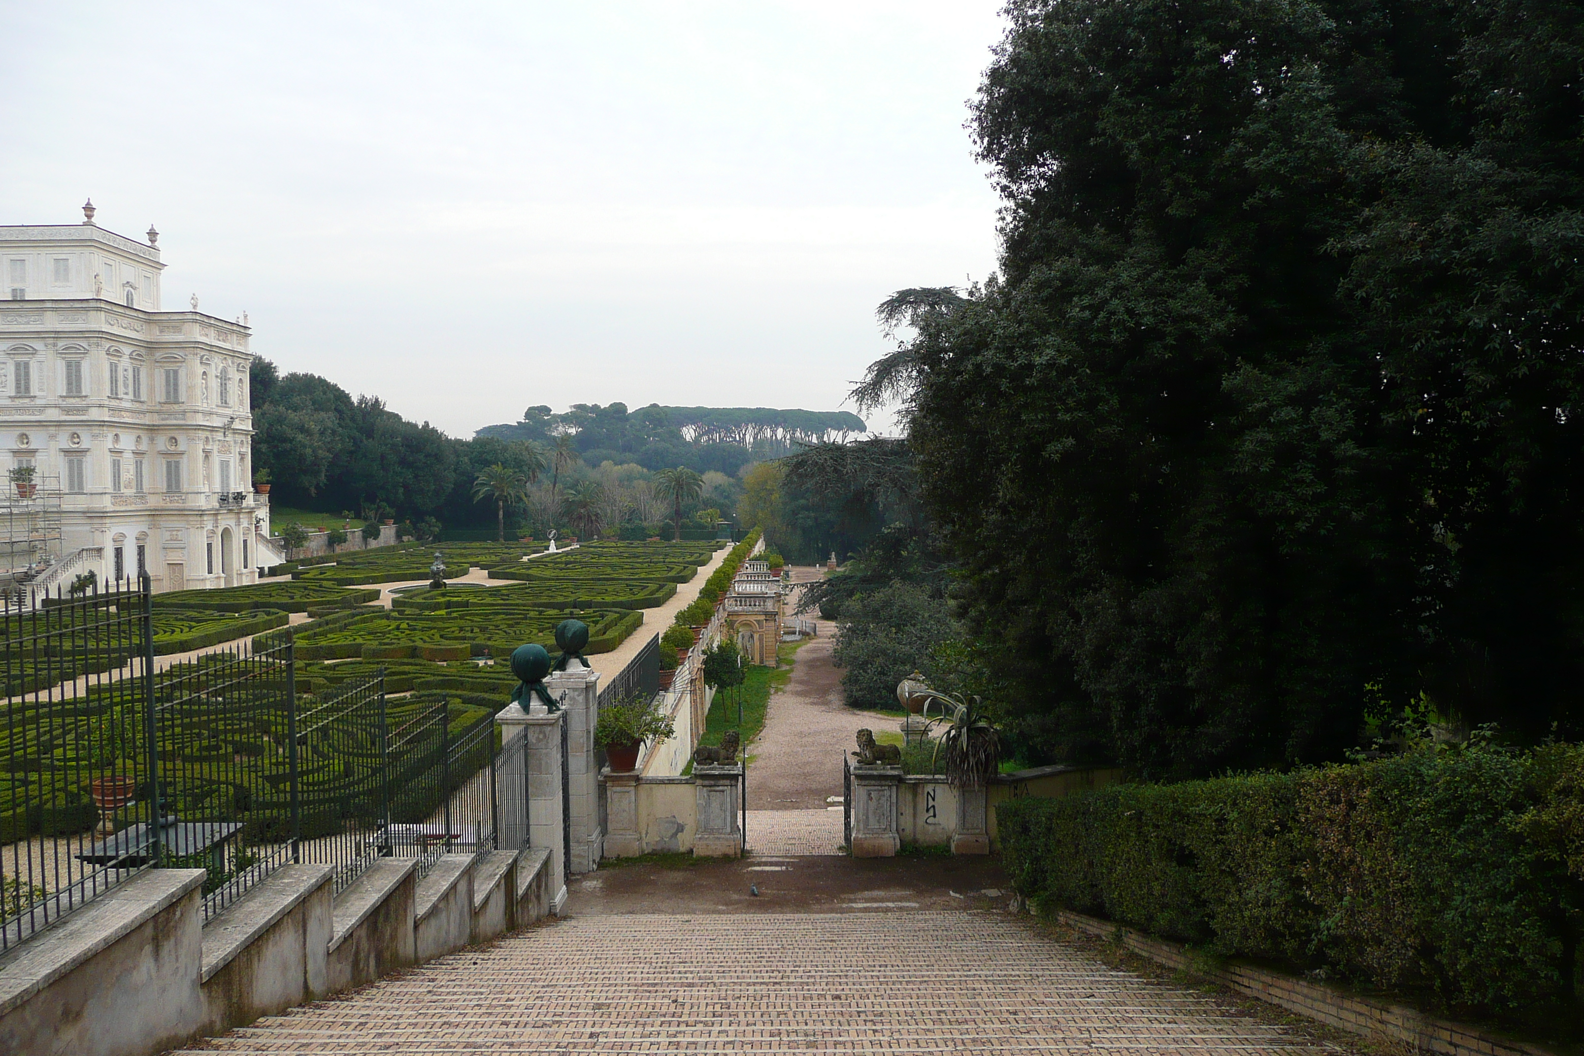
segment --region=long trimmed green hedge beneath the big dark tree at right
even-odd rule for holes
[[[1041,909],[1449,1009],[1576,1001],[1581,746],[1112,785],[1001,803],[996,822]]]

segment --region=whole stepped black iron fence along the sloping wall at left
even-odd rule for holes
[[[150,605],[147,576],[0,600],[0,950],[150,866],[208,869],[209,918],[287,861],[339,891],[496,847],[477,708],[383,671],[299,697],[285,630],[158,668]]]

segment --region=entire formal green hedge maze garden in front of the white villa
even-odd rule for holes
[[[280,632],[296,643],[304,838],[361,831],[360,811],[369,807],[375,779],[401,790],[390,800],[391,820],[421,820],[445,795],[431,773],[439,749],[426,741],[444,744],[444,738],[425,733],[425,722],[434,725],[434,716],[444,714],[453,741],[489,722],[516,686],[505,657],[529,641],[554,652],[554,627],[573,611],[589,624],[586,652],[615,649],[642,625],[642,610],[668,602],[718,545],[586,543],[532,562],[523,557],[540,545],[442,545],[453,575],[477,565],[518,581],[418,592],[396,598],[391,610],[369,605],[379,589],[353,586],[426,579],[434,549],[364,551],[334,565],[298,568],[290,583],[154,598],[160,654],[269,632],[287,624],[288,613],[315,617]],[[84,633],[93,636],[92,629]],[[68,635],[55,646],[59,655],[13,657],[5,692],[17,697],[89,670],[119,668],[139,651],[136,635],[124,636],[124,643],[84,640],[79,649]],[[290,823],[287,674],[284,663],[260,668],[258,660],[272,640],[255,641],[250,659],[219,651],[155,678],[160,777],[171,807],[188,819],[241,820],[244,842],[280,839]],[[238,671],[247,663],[253,668],[242,678]],[[385,730],[407,730],[402,750],[386,752],[388,771],[379,769],[380,724],[377,705],[367,703],[379,697],[366,689],[382,670],[390,695]],[[116,678],[63,701],[8,705],[10,720],[0,725],[0,757],[8,762],[0,769],[0,842],[29,833],[86,833],[98,820],[87,795],[93,777],[119,773],[146,782],[139,679]],[[348,703],[348,692],[364,700]],[[477,768],[469,762],[451,769],[455,785]],[[425,774],[428,784],[418,781]],[[24,807],[24,800],[33,806]],[[146,795],[128,809],[130,820],[138,809],[147,811]]]

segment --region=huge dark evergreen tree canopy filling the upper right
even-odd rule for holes
[[[868,383],[1009,706],[1147,776],[1584,731],[1584,11],[1007,14],[1000,274]]]

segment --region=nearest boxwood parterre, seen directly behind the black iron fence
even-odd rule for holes
[[[168,806],[177,815],[244,820],[244,842],[280,839],[290,823],[290,755],[287,738],[285,678],[215,678],[195,692],[195,673],[220,673],[225,657],[174,665],[157,674],[155,700],[160,724],[160,776]],[[361,660],[342,665],[298,663],[298,682],[318,693],[298,698],[298,730],[304,836],[337,831],[367,800],[369,777],[380,765],[379,709],[372,703],[337,712],[336,692],[379,667]],[[385,728],[401,731],[415,720],[445,708],[447,728],[456,739],[489,722],[505,706],[515,678],[474,676],[472,663],[447,668],[437,663],[415,668],[412,662],[385,665]],[[331,678],[323,678],[339,668]],[[488,668],[486,668],[488,670]],[[447,671],[450,671],[448,679]],[[425,682],[413,687],[412,682]],[[439,682],[448,681],[440,686]],[[406,682],[406,689],[404,689]],[[103,774],[144,774],[143,708],[131,686],[97,687],[90,693],[55,701],[14,701],[0,725],[0,754],[10,766],[0,773],[0,844],[29,834],[84,833],[98,822],[87,785]],[[417,689],[417,692],[409,692]],[[325,720],[326,712],[337,712]],[[440,798],[434,758],[442,744],[434,730],[407,744],[391,760],[391,787],[417,788],[393,798],[393,820],[413,822]],[[239,766],[239,760],[249,760]],[[477,766],[461,766],[451,785],[466,781]],[[420,777],[428,774],[428,781]],[[139,793],[146,801],[146,795]],[[27,806],[32,804],[32,806]],[[48,804],[48,806],[44,806]],[[146,809],[146,806],[139,807]],[[136,820],[135,817],[128,820]]]

